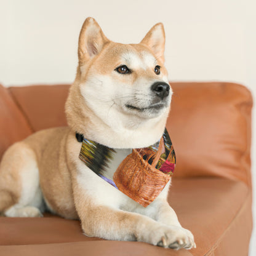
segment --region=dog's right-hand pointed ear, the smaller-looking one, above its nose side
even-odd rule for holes
[[[140,43],[148,46],[156,58],[164,62],[164,45],[166,43],[166,34],[164,33],[164,25],[162,25],[162,23],[157,23],[154,25]]]

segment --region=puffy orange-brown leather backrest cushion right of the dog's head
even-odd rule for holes
[[[167,121],[177,166],[174,178],[214,176],[250,186],[252,95],[239,84],[172,84]]]

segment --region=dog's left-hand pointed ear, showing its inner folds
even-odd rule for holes
[[[84,63],[95,57],[103,49],[103,46],[110,42],[103,34],[100,25],[94,18],[86,18],[79,35],[78,58],[79,63]]]

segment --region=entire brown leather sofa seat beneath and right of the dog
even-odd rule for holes
[[[196,249],[176,252],[140,242],[88,238],[78,221],[46,214],[44,218],[1,217],[0,255],[214,255],[222,247],[225,254],[218,255],[246,255],[252,217],[250,190],[243,182],[177,178],[169,195],[180,223],[194,234]],[[233,246],[223,246],[223,242]],[[234,249],[238,244],[240,249]],[[233,254],[234,250],[242,253]]]

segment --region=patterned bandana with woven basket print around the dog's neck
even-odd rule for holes
[[[175,152],[166,129],[154,145],[130,149],[121,159],[114,159],[120,158],[118,149],[87,140],[79,134],[76,138],[82,142],[79,158],[86,166],[144,207],[156,199],[174,172]],[[112,161],[118,161],[118,167],[113,177],[105,177]]]

